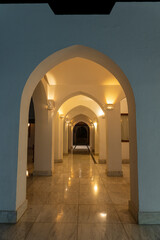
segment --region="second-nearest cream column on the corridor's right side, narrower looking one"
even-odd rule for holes
[[[106,163],[106,119],[100,116],[99,121],[99,163]]]

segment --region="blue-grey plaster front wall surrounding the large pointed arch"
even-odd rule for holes
[[[159,11],[159,2],[118,2],[107,16],[56,16],[48,4],[0,6],[1,210],[14,210],[21,204],[19,201],[16,206],[16,186],[17,172],[25,164],[20,162],[17,167],[19,109],[25,83],[50,54],[81,44],[109,56],[129,79],[136,102],[139,210],[160,211]],[[91,87],[89,93],[104,103],[101,87],[97,91]],[[72,91],[79,89],[76,86]],[[69,86],[62,95],[68,90]],[[27,143],[24,151],[25,146]],[[134,175],[136,166],[132,169]]]

